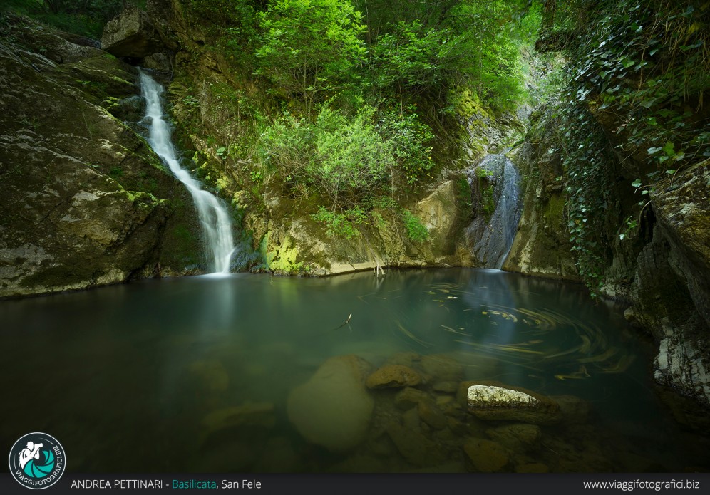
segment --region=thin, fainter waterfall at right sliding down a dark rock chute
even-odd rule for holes
[[[485,177],[479,179],[479,177]],[[473,252],[485,268],[500,269],[510,252],[522,212],[519,190],[520,174],[505,155],[486,155],[480,164],[469,171],[469,180],[478,180],[488,189],[481,191],[495,202],[495,209],[486,222],[485,214],[478,216],[465,230]]]

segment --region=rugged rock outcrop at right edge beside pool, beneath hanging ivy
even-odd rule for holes
[[[659,340],[654,378],[710,407],[710,160],[653,197],[657,225],[638,258],[635,319]]]

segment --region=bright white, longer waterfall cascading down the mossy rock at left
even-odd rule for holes
[[[171,138],[170,125],[163,118],[161,97],[163,86],[140,71],[140,87],[145,98],[145,120],[150,126],[148,142],[155,153],[168,164],[175,177],[185,184],[195,202],[197,217],[202,224],[207,259],[214,273],[230,273],[230,259],[235,250],[232,222],[227,209],[214,194],[202,189],[202,184],[180,167]]]

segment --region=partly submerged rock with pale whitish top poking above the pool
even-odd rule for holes
[[[480,384],[468,387],[468,412],[486,421],[533,424],[560,422],[560,406],[548,397],[521,387]]]

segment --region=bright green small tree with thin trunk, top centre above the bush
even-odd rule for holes
[[[256,73],[297,95],[309,114],[317,98],[348,84],[365,54],[361,14],[343,0],[277,0],[259,13]]]

